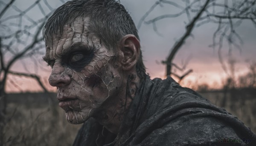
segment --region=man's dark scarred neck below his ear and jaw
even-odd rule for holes
[[[135,97],[140,86],[140,78],[137,73],[130,73],[122,83],[122,89],[115,97],[109,97],[105,104],[96,113],[96,120],[108,131],[117,134],[122,120]]]

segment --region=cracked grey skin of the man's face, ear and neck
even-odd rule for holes
[[[52,67],[49,84],[57,87],[59,105],[66,112],[68,122],[80,124],[94,117],[117,134],[123,115],[140,86],[135,67],[140,42],[128,34],[119,41],[116,49],[108,49],[99,37],[90,33],[89,22],[89,17],[77,17],[73,23],[64,25],[62,33],[53,34],[52,39],[46,38],[44,60],[48,63],[50,60]],[[63,56],[79,49],[93,51],[93,57],[77,71],[63,63]],[[83,54],[76,54],[68,61],[81,57]],[[133,78],[128,82],[131,76]]]

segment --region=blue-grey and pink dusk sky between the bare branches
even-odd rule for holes
[[[31,2],[29,0],[26,1]],[[25,5],[26,1],[17,0],[15,2],[15,6],[20,9],[26,9],[28,7],[28,5]],[[120,1],[128,10],[136,25],[139,23],[145,12],[148,11],[148,9],[150,9],[150,7],[156,2],[156,0]],[[52,8],[60,6],[60,2],[57,1],[49,1],[49,4]],[[42,5],[42,7],[46,9],[44,5]],[[162,14],[175,14],[178,11],[180,10],[173,6],[157,6],[145,20],[150,20]],[[7,12],[7,14],[13,13],[15,12]],[[39,9],[35,8],[32,9],[29,15],[36,19],[41,14]],[[166,77],[166,66],[160,64],[160,62],[168,57],[175,41],[182,37],[186,30],[185,27],[187,23],[188,19],[186,15],[183,14],[177,18],[167,18],[158,21],[156,26],[160,35],[153,30],[152,25],[145,23],[143,23],[138,30],[141,49],[143,51],[143,60],[147,68],[146,72],[151,76],[151,79],[155,77],[164,79]],[[189,59],[186,70],[193,69],[193,72],[181,82],[183,86],[192,87],[196,84],[204,83],[209,84],[212,88],[221,88],[223,86],[223,81],[227,77],[227,74],[225,74],[224,70],[221,68],[221,63],[218,60],[218,49],[212,49],[209,47],[209,45],[212,44],[212,35],[217,27],[217,24],[209,23],[193,29],[193,37],[189,37],[186,40],[186,43],[177,52],[174,63],[181,66],[182,62]],[[250,60],[249,62],[256,61],[256,28],[250,21],[243,21],[241,26],[237,28],[237,32],[244,41],[241,47],[241,52],[236,48],[233,48],[232,50],[232,58],[236,60],[235,71],[238,76],[247,72],[249,66],[248,60]],[[222,56],[225,61],[227,61],[228,58],[228,51],[227,43],[224,43]],[[8,58],[8,54],[6,55],[6,58]],[[41,74],[42,81],[47,88],[50,91],[55,91],[55,88],[50,87],[47,83],[47,76],[49,76],[51,69],[46,66],[46,63],[42,62],[40,57],[38,58],[38,63],[41,63],[38,67],[35,67],[33,62],[24,60],[26,63],[25,68],[27,69],[24,69],[21,62],[17,62],[12,66],[12,70],[20,72],[26,72],[26,70],[29,70],[31,73]],[[9,78],[12,79],[12,82],[15,81],[17,86],[13,87],[12,83],[9,81],[6,86],[7,92],[41,91],[40,86],[32,79],[13,76],[9,76]]]

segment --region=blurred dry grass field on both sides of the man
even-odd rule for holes
[[[236,97],[223,92],[204,92],[201,95],[217,106],[224,105],[228,112],[237,116],[256,133],[256,94],[236,92],[233,93]],[[3,146],[72,145],[81,125],[68,123],[56,100],[53,100],[53,106],[50,107],[47,97],[43,97],[38,94],[13,94],[9,98]],[[226,97],[226,100],[223,97]]]

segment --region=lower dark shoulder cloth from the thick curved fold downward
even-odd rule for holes
[[[252,144],[244,143],[244,138],[256,142],[256,135],[236,117],[204,104],[183,103],[156,113],[137,128],[131,143],[148,146]],[[223,139],[236,142],[223,143]]]

